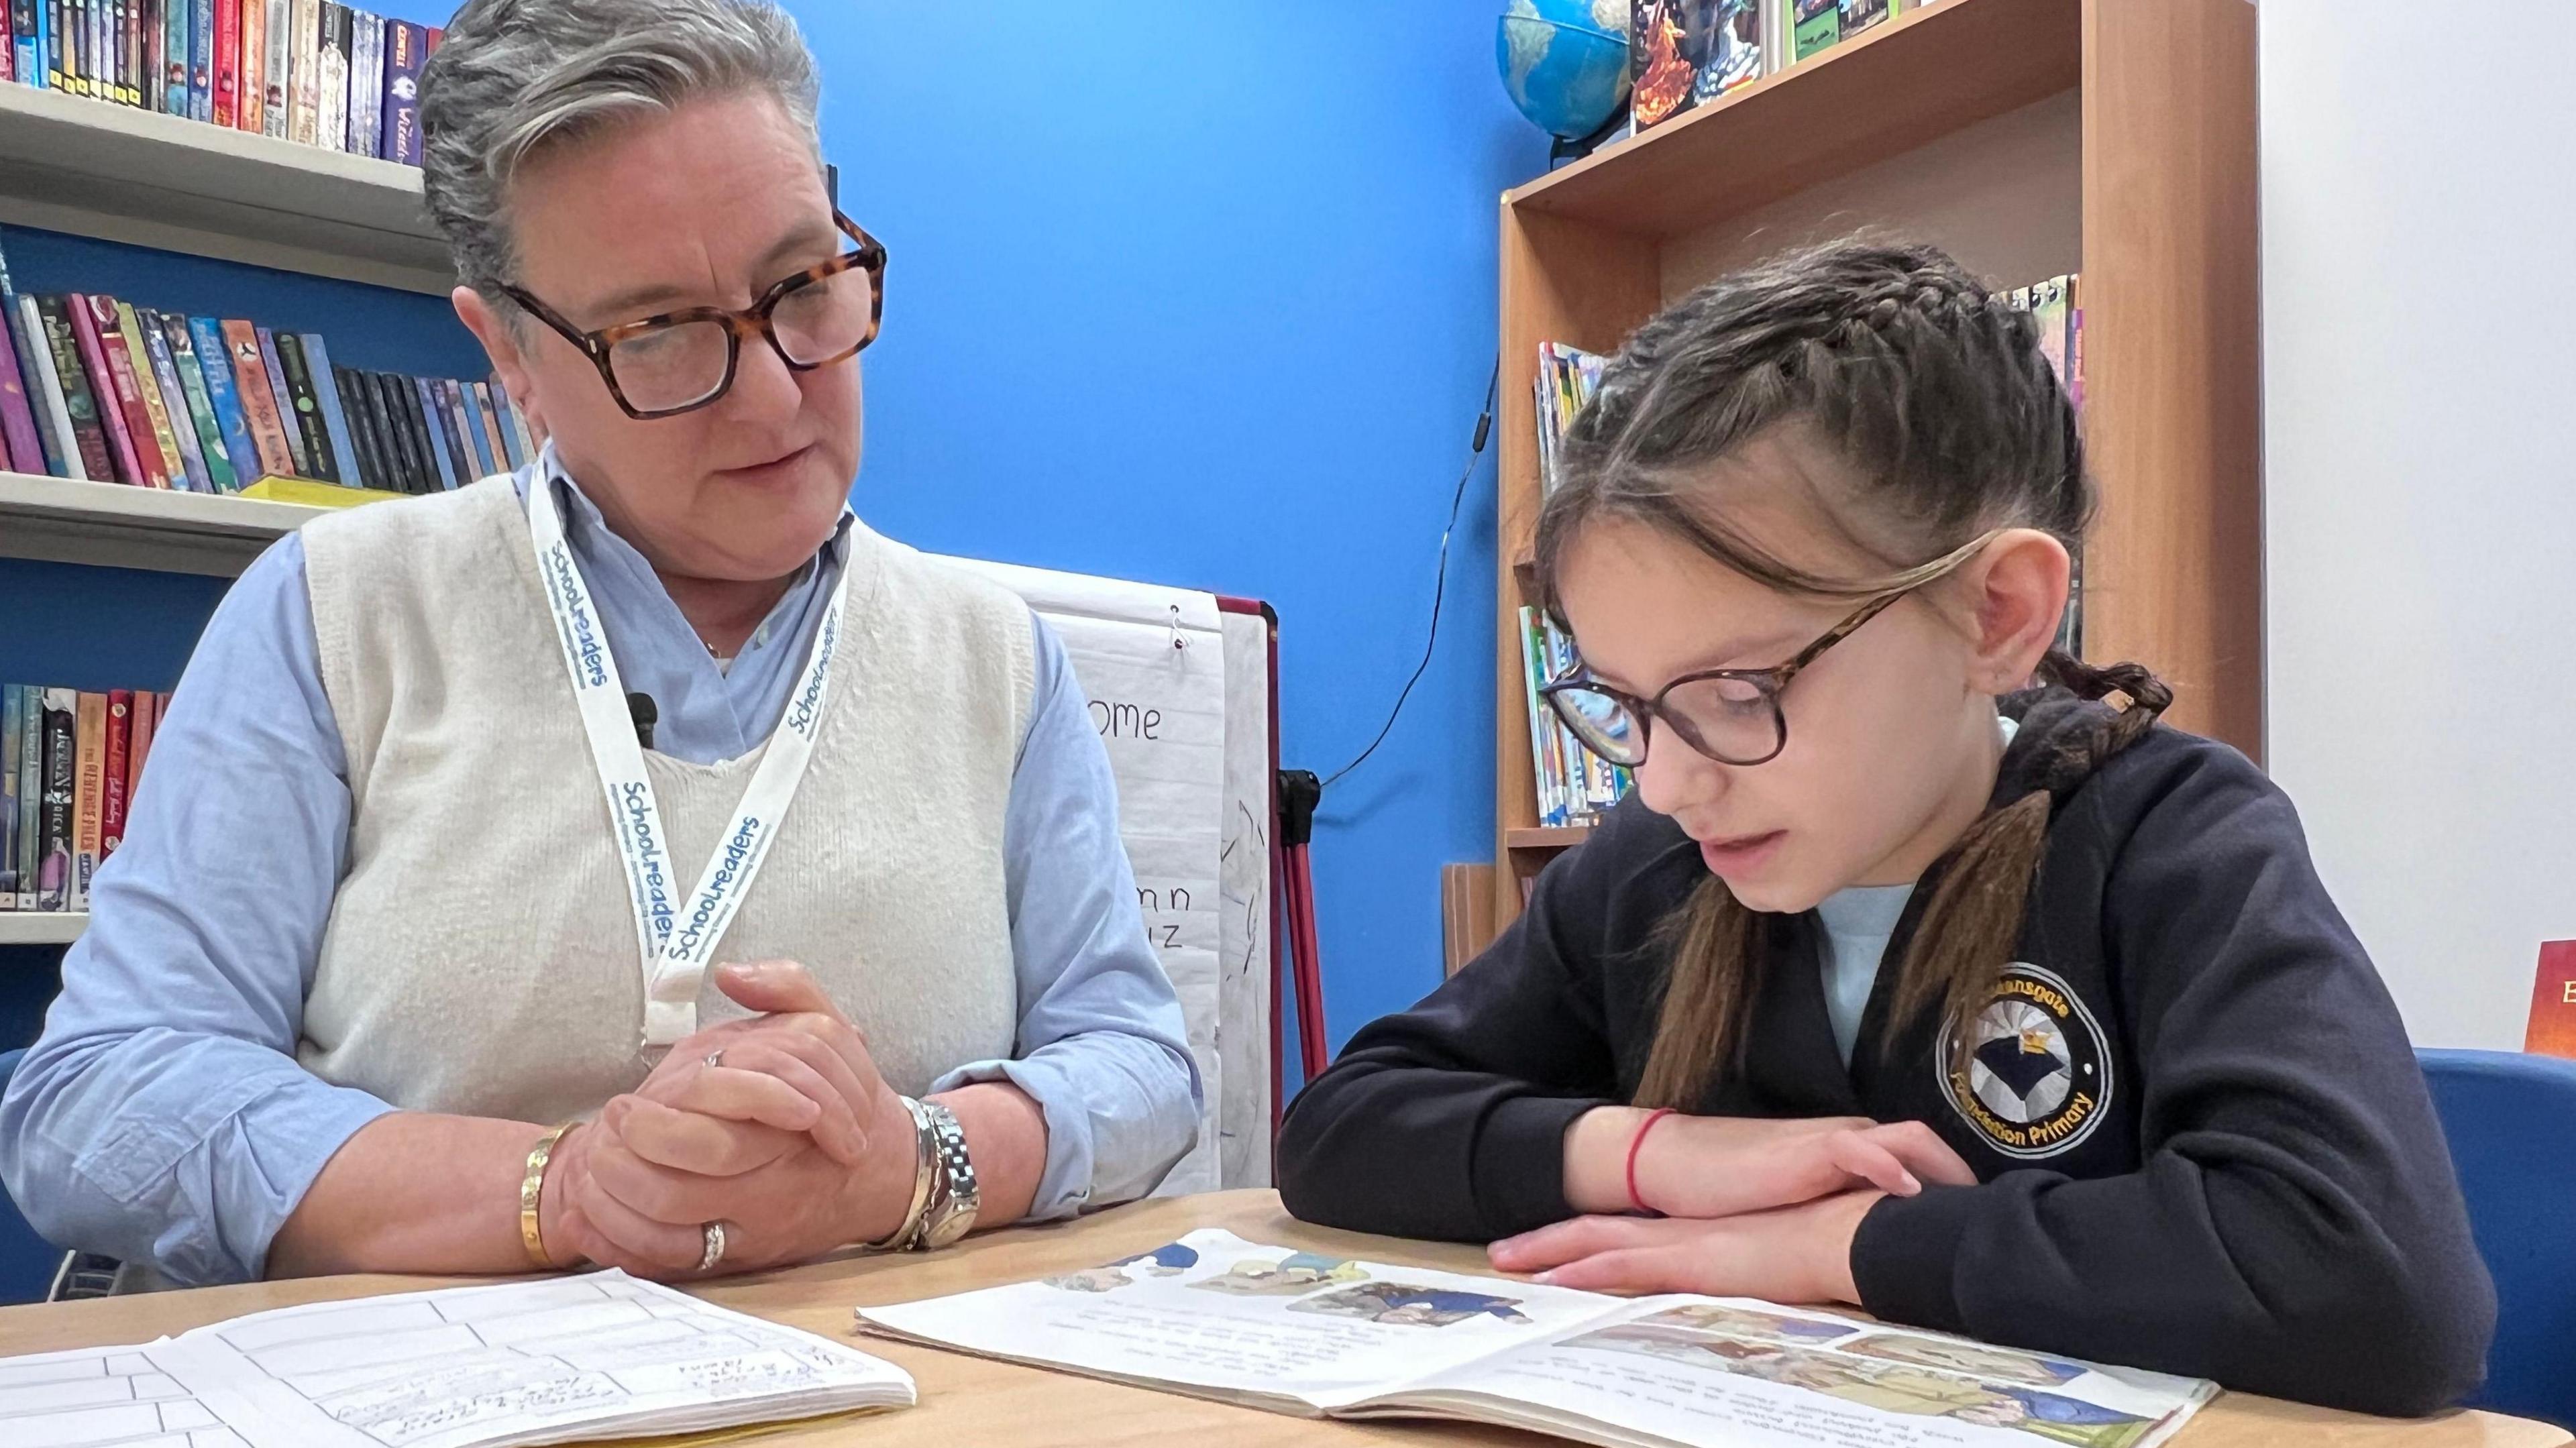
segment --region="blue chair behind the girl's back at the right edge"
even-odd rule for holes
[[[2416,1056],[2496,1278],[2496,1348],[2470,1407],[2576,1427],[2576,1062]]]

